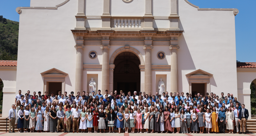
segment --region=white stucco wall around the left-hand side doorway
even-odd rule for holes
[[[40,73],[56,68],[68,73],[65,91],[68,94],[74,91],[76,49],[70,30],[76,27],[77,4],[77,0],[70,0],[57,10],[22,9],[19,20],[18,90],[43,92]]]

